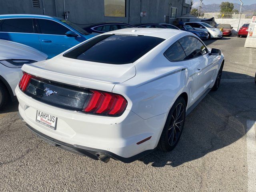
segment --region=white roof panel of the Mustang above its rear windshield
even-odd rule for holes
[[[126,29],[106,32],[104,34],[145,35],[145,36],[168,39],[177,34],[190,35],[191,33],[182,31],[182,30],[166,29],[166,28],[126,28]]]

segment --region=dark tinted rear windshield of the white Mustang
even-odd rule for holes
[[[164,39],[152,36],[108,34],[98,36],[63,56],[108,64],[133,63]]]

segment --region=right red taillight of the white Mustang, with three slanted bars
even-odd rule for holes
[[[124,112],[126,99],[118,94],[90,90],[90,95],[83,111],[94,114],[118,116]]]

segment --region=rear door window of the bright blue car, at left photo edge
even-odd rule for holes
[[[32,19],[5,19],[2,20],[0,31],[16,33],[34,33]]]

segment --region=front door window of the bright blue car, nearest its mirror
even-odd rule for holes
[[[65,35],[69,31],[62,24],[48,19],[38,19],[38,24],[42,34]]]

